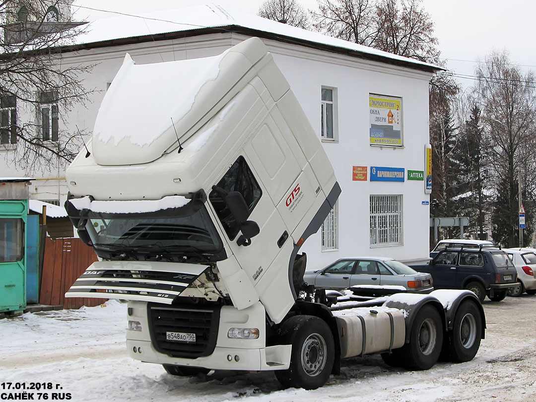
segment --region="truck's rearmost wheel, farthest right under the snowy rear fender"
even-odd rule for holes
[[[449,333],[450,359],[455,362],[470,361],[480,347],[482,315],[478,306],[466,300],[456,311],[454,325]]]

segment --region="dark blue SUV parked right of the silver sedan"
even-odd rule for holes
[[[501,301],[516,286],[517,271],[508,255],[497,248],[448,248],[426,265],[411,265],[428,272],[436,289],[468,289],[483,301]]]

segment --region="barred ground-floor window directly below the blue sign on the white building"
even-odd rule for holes
[[[370,196],[370,245],[402,242],[402,196]]]

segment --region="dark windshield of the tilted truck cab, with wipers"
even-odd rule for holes
[[[221,259],[221,239],[203,206],[187,216],[140,214],[101,214],[90,212],[86,230],[96,250],[125,252],[126,256],[160,256],[165,260]],[[123,255],[123,258],[125,255]],[[180,258],[179,258],[180,260]]]

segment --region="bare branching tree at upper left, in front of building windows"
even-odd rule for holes
[[[0,144],[27,173],[64,167],[83,139],[63,118],[91,90],[81,75],[92,66],[62,64],[61,49],[83,26],[71,20],[68,0],[0,3]]]

